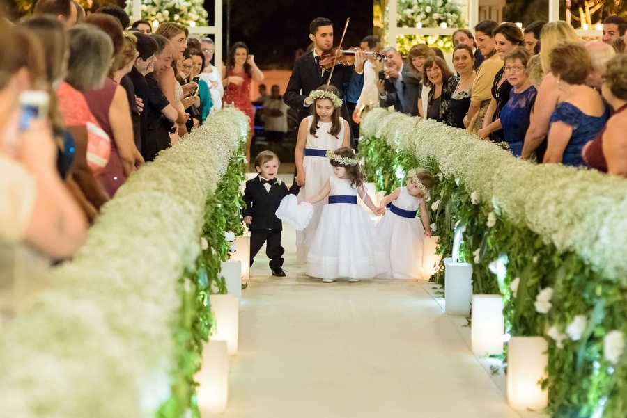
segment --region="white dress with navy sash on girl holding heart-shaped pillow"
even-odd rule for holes
[[[373,278],[389,271],[387,251],[366,211],[357,204],[357,188],[346,179],[329,179],[330,203],[320,216],[307,255],[307,275],[314,278]],[[350,203],[331,203],[352,200]]]

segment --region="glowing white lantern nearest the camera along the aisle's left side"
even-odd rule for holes
[[[201,417],[220,414],[226,409],[229,399],[229,355],[226,341],[209,341],[203,347],[203,365],[194,380],[196,402]]]

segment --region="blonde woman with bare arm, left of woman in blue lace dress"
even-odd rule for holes
[[[546,136],[555,106],[562,102],[562,91],[551,72],[550,51],[564,42],[581,42],[573,26],[563,21],[545,24],[540,35],[540,63],[545,74],[536,96],[536,105],[529,121],[529,129],[522,145],[522,159],[542,162],[546,151]]]

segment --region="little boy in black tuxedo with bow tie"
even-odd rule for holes
[[[255,159],[255,170],[259,173],[246,182],[244,190],[244,222],[250,230],[250,265],[265,244],[265,254],[270,258],[272,275],[285,277],[283,271],[284,248],[281,246],[283,225],[277,218],[281,200],[288,194],[297,194],[300,186],[294,182],[288,190],[285,183],[277,179],[279,157],[272,151],[262,151]]]

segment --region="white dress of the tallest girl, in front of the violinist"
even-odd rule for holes
[[[318,152],[323,154],[326,150],[336,150],[342,146],[344,138],[344,120],[342,118],[340,118],[342,129],[337,138],[329,134],[331,122],[318,122],[318,132],[316,132],[318,138],[311,135],[309,129],[311,128],[313,120],[313,116],[307,117],[307,143],[305,143],[305,154],[308,153],[307,150],[313,150],[311,153]],[[327,179],[333,176],[333,168],[330,160],[325,156],[305,155],[302,160],[302,166],[305,171],[305,185],[302,186],[298,193],[299,202],[318,193],[327,182]],[[328,200],[325,198],[321,202],[314,204],[314,216],[311,216],[309,225],[307,225],[307,228],[304,230],[296,232],[297,261],[300,264],[307,261],[311,240],[314,239],[316,229],[318,228],[318,221],[320,220],[320,214],[327,202]]]

